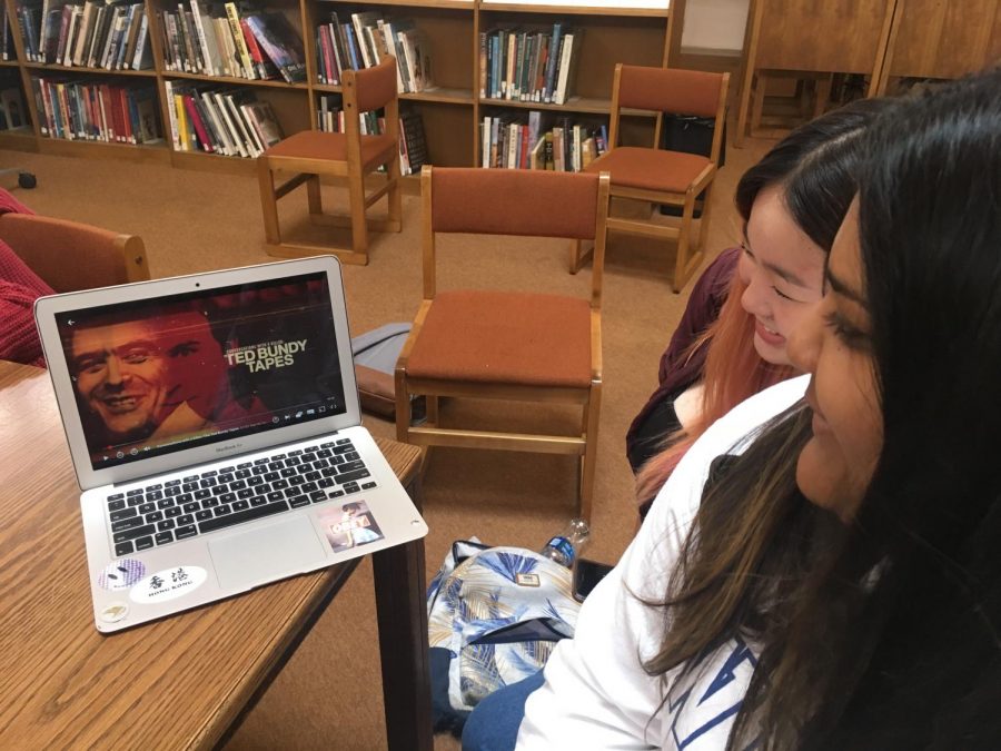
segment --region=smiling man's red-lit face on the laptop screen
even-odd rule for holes
[[[167,364],[151,325],[133,322],[76,332],[72,365],[77,391],[112,436],[141,437],[143,429],[156,427]]]

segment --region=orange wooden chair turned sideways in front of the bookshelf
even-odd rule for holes
[[[399,108],[396,92],[396,58],[387,57],[366,70],[345,70],[343,79],[345,131],[338,134],[304,130],[276,144],[257,158],[260,204],[264,211],[268,255],[299,258],[335,254],[348,264],[368,264],[368,230],[398,233],[399,195]],[[361,135],[361,113],[385,108],[386,132]],[[386,167],[387,179],[370,194],[365,177]],[[297,172],[280,186],[275,171]],[[320,176],[346,178],[350,215],[324,214],[320,202]],[[278,228],[278,199],[306,184],[309,219],[315,224],[350,227],[351,249],[323,245],[283,243]],[[383,196],[389,198],[387,219],[366,219],[365,211]]]

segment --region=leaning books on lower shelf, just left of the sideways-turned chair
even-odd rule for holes
[[[270,102],[254,91],[166,81],[170,138],[178,151],[256,158],[285,136]]]

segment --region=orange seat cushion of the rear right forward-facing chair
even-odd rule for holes
[[[697,154],[620,146],[592,161],[585,171],[608,172],[613,192],[616,187],[684,192],[710,164]]]

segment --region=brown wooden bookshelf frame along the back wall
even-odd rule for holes
[[[392,19],[409,19],[427,41],[430,50],[434,86],[419,92],[400,93],[402,108],[416,110],[424,125],[427,156],[439,166],[480,164],[480,122],[486,115],[509,112],[513,117],[542,110],[546,116],[573,117],[581,121],[607,122],[611,109],[612,75],[616,62],[644,66],[666,65],[673,31],[683,0],[674,0],[676,10],[668,12],[667,0],[551,0],[529,3],[522,0],[257,0],[252,8],[284,14],[303,39],[306,78],[289,83],[281,78],[250,80],[232,76],[208,76],[205,72],[168,69],[171,50],[165,49],[167,36],[163,12],[177,12],[176,0],[142,0],[148,16],[152,67],[149,70],[105,70],[88,67],[63,67],[28,60],[28,42],[20,32],[18,8],[41,0],[0,0],[13,21],[16,60],[0,61],[0,82],[14,80],[24,98],[31,125],[19,131],[0,130],[0,148],[79,156],[95,159],[159,161],[181,169],[204,169],[231,174],[254,174],[255,160],[220,156],[204,151],[186,151],[174,147],[170,134],[168,85],[226,87],[249,90],[274,110],[286,135],[317,128],[316,109],[324,96],[338,95],[340,87],[323,83],[319,78],[315,29],[327,23],[336,12],[341,22],[351,13],[373,11]],[[82,3],[83,0],[72,0]],[[48,0],[51,8],[66,0]],[[188,0],[184,4],[188,7]],[[200,3],[202,7],[221,3]],[[244,8],[244,3],[239,3]],[[563,22],[583,32],[568,96],[564,103],[516,101],[480,96],[480,33],[494,28],[552,29]],[[320,57],[323,50],[320,50]],[[148,83],[155,88],[159,129],[163,138],[157,142],[131,145],[93,140],[63,140],[43,134],[32,81],[39,77],[53,80],[107,82],[113,86]],[[648,145],[654,132],[651,113],[627,113],[623,121],[623,142]]]

